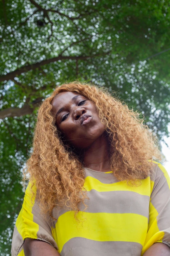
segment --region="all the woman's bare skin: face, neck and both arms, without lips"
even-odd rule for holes
[[[65,142],[72,145],[81,156],[84,166],[101,172],[110,171],[109,142],[95,104],[83,95],[62,92],[52,100],[51,105],[57,128]],[[61,108],[61,112],[57,113]],[[81,124],[84,114],[92,117],[88,123]],[[26,238],[23,248],[25,256],[60,255],[48,243],[29,238]],[[165,244],[156,243],[144,253],[144,256],[152,255],[170,256],[170,249]]]

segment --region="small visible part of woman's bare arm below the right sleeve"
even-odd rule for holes
[[[143,256],[170,256],[170,248],[163,243],[153,244]]]

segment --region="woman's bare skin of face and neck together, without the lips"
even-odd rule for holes
[[[51,104],[57,128],[66,142],[82,156],[84,166],[101,172],[109,171],[105,126],[101,123],[95,104],[85,96],[72,92],[58,94]],[[61,107],[64,109],[57,114]],[[84,114],[92,116],[87,124],[81,124]]]

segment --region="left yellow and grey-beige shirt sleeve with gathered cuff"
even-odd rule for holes
[[[32,238],[47,242],[58,250],[54,239],[50,216],[42,217],[42,213],[36,200],[36,188],[30,183],[25,191],[23,205],[18,215],[12,238],[12,256],[24,256],[23,243],[26,238]]]

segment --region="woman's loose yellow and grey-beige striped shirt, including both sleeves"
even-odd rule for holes
[[[35,197],[26,189],[16,221],[12,256],[24,256],[25,238],[42,240],[61,256],[142,256],[154,243],[170,247],[170,178],[155,162],[153,174],[132,187],[112,172],[84,168],[88,208],[74,211],[54,208],[54,221],[42,218]]]

